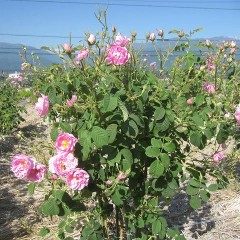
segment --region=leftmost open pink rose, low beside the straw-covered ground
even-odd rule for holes
[[[17,154],[12,158],[11,170],[17,178],[26,178],[34,167],[34,158]]]

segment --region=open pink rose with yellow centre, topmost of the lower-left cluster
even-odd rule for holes
[[[74,151],[78,139],[70,133],[60,133],[57,137],[55,147],[58,152],[70,153]]]

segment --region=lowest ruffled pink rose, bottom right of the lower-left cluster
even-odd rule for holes
[[[89,174],[80,168],[75,168],[67,174],[66,182],[69,188],[82,190],[89,183]]]

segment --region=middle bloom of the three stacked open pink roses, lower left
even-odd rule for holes
[[[59,153],[49,159],[49,171],[59,176],[66,176],[78,165],[77,158],[72,153]]]

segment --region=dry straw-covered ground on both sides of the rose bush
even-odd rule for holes
[[[32,104],[26,103],[26,109],[25,122],[19,129],[0,139],[0,240],[41,239],[37,232],[42,225],[55,226],[38,213],[43,192],[30,196],[28,183],[16,179],[10,171],[11,157],[16,153],[37,154],[42,160],[49,157],[45,151],[52,144],[48,124]],[[187,198],[184,191],[180,191],[169,207],[169,222],[177,225],[187,240],[240,239],[238,182],[233,180],[228,189],[213,193],[209,203],[197,211],[190,208]]]

